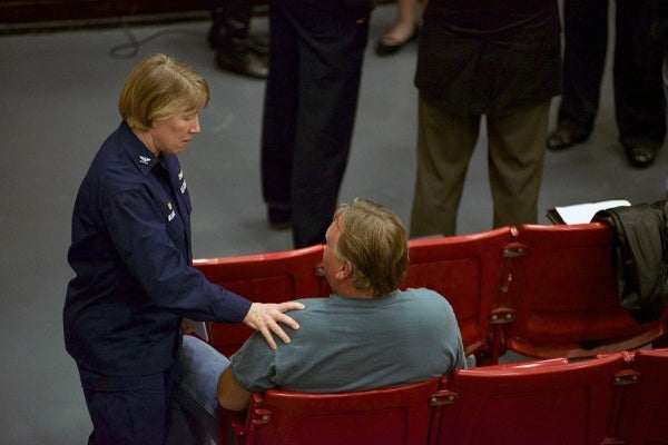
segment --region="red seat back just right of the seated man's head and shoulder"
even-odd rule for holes
[[[401,287],[426,287],[450,301],[466,355],[490,346],[489,317],[499,297],[501,251],[513,233],[513,228],[502,227],[409,243],[409,269]]]

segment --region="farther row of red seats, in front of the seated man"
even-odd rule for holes
[[[254,301],[278,303],[328,295],[322,251],[313,246],[195,266]],[[600,222],[411,240],[402,287],[428,287],[448,298],[466,354],[479,363],[495,364],[505,349],[537,358],[592,357],[636,349],[668,330],[668,310],[638,324],[619,305],[612,251],[612,230]],[[227,356],[250,335],[243,324],[209,328],[212,345]]]

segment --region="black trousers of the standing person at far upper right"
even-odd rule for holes
[[[574,139],[572,142],[589,137],[598,111],[608,47],[608,0],[564,1],[563,95],[558,130],[568,131]],[[656,152],[666,135],[666,101],[661,93],[662,50],[650,34],[657,8],[658,0],[616,1],[615,116],[619,141],[631,164],[638,146]],[[639,159],[639,166],[642,166],[644,159]],[[646,160],[651,162],[654,157]]]

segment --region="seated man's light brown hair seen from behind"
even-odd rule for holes
[[[409,266],[406,231],[390,209],[366,199],[343,204],[334,214],[340,235],[335,253],[352,265],[356,288],[380,297],[399,288]]]

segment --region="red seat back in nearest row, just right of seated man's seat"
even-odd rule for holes
[[[622,354],[455,370],[435,408],[432,445],[600,445],[613,415]]]

